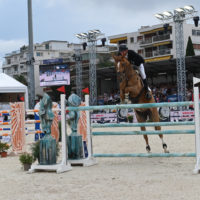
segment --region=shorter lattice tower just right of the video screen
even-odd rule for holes
[[[75,62],[76,62],[76,94],[82,99],[82,59],[81,49],[75,47]]]

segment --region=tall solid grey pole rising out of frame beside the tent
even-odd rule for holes
[[[29,108],[34,108],[35,100],[35,76],[34,76],[34,54],[33,54],[33,24],[32,24],[32,0],[28,0],[28,94]]]

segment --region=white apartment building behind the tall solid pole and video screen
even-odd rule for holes
[[[63,58],[63,62],[72,60],[76,44],[67,41],[50,40],[41,44],[34,45],[34,74],[35,74],[35,94],[42,95],[43,88],[40,87],[39,66],[44,60]],[[18,51],[13,51],[5,55],[5,62],[2,70],[4,73],[14,76],[22,74],[26,79],[28,74],[28,47],[23,46]]]

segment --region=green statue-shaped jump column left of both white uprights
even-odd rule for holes
[[[40,165],[56,164],[56,140],[51,136],[51,124],[54,118],[52,100],[44,94],[39,111],[42,130],[45,136],[40,140]]]

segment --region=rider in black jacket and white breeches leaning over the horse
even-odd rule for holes
[[[148,86],[146,74],[145,74],[145,71],[144,71],[145,61],[144,61],[143,57],[140,56],[139,54],[137,54],[133,50],[128,50],[126,44],[120,44],[119,55],[122,55],[122,56],[127,55],[128,61],[131,64],[135,64],[136,66],[138,66],[138,69],[139,69],[139,72],[140,72],[140,75],[142,77],[142,81],[143,81],[143,84],[144,84],[144,88],[146,90],[146,99],[148,99],[148,100],[151,99],[151,93],[150,93],[151,90]]]

